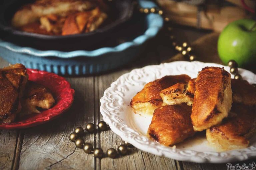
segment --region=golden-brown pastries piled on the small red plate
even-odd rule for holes
[[[17,115],[40,113],[37,108],[49,109],[54,103],[49,89],[28,80],[24,65],[0,69],[0,122],[10,123]]]

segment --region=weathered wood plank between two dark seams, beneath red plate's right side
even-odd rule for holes
[[[94,169],[92,154],[86,154],[69,141],[70,131],[93,122],[93,77],[67,78],[75,89],[71,109],[52,122],[24,130],[20,169]],[[94,141],[93,134],[84,136]]]

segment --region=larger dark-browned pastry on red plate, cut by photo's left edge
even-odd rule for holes
[[[12,122],[20,112],[20,99],[27,78],[26,68],[22,64],[0,69],[0,121]]]

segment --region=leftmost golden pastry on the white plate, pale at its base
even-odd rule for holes
[[[136,114],[152,115],[154,110],[162,106],[160,91],[178,82],[187,83],[188,75],[164,76],[161,79],[147,83],[131,100],[130,105]]]

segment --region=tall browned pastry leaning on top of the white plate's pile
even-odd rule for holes
[[[205,67],[195,81],[191,114],[194,129],[202,131],[228,116],[232,104],[230,74],[219,67]]]

